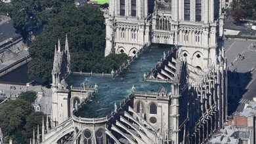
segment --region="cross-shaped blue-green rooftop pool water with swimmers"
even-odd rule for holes
[[[147,48],[140,54],[139,58],[125,69],[123,73],[115,79],[107,77],[88,77],[71,75],[66,79],[71,86],[81,86],[85,82],[90,86],[98,85],[98,94],[93,98],[93,102],[85,103],[83,107],[75,113],[76,116],[86,118],[106,117],[114,111],[114,103],[119,103],[131,93],[131,88],[135,85],[139,92],[158,92],[162,87],[170,91],[171,86],[167,83],[146,82],[143,80],[144,73],[147,73],[154,65],[163,58],[163,52],[171,48]],[[123,81],[121,81],[121,78]]]

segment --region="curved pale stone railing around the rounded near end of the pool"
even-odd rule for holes
[[[83,117],[75,117],[73,115],[72,118],[73,120],[84,123],[84,124],[97,124],[97,123],[108,122],[108,116],[102,117],[102,118],[83,118]]]

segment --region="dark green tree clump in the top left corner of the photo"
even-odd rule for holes
[[[5,13],[9,13],[14,27],[26,37],[28,32],[37,31],[47,24],[59,8],[64,4],[73,4],[74,0],[12,0],[11,4],[3,5]]]

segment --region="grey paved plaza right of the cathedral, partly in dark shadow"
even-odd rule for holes
[[[256,48],[253,45],[256,45],[253,41],[224,41],[228,69],[231,71],[228,79],[228,97],[236,100],[234,103],[239,101],[237,111],[242,111],[244,103],[256,96]],[[238,56],[239,54],[241,56]],[[249,73],[250,70],[252,74]]]

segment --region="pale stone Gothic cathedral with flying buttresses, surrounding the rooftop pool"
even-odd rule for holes
[[[227,120],[221,8],[219,0],[110,0],[103,10],[105,56],[125,53],[133,60],[150,45],[169,45],[167,54],[142,77],[167,82],[171,91],[140,92],[133,87],[106,117],[77,117],[74,113],[98,87],[66,82],[74,73],[66,36],[63,51],[60,41],[55,46],[51,120],[46,128],[43,123],[37,143],[207,143]]]

